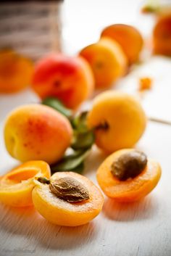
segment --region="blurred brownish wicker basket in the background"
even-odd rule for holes
[[[62,1],[0,1],[0,49],[31,59],[60,51]]]

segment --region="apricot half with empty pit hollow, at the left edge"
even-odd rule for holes
[[[35,186],[34,177],[49,178],[51,171],[49,165],[43,161],[29,161],[12,169],[1,177],[0,201],[5,205],[26,207],[33,205],[32,190]]]

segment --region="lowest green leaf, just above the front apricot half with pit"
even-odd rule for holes
[[[83,161],[88,156],[90,150],[84,150],[80,152],[80,154],[72,157],[71,155],[65,156],[61,161],[57,162],[57,164],[51,166],[51,172],[57,171],[75,171],[83,168]],[[81,165],[82,164],[82,165]]]

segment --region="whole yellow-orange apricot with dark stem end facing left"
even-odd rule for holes
[[[146,128],[146,115],[134,96],[106,91],[96,96],[87,123],[96,145],[108,153],[133,146]]]

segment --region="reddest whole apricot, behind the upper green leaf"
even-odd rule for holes
[[[54,96],[75,109],[91,96],[93,73],[81,57],[51,54],[37,63],[32,87],[41,99]]]

